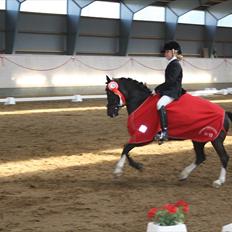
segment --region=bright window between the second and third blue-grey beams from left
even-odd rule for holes
[[[82,9],[81,16],[119,19],[120,3],[95,1]]]

